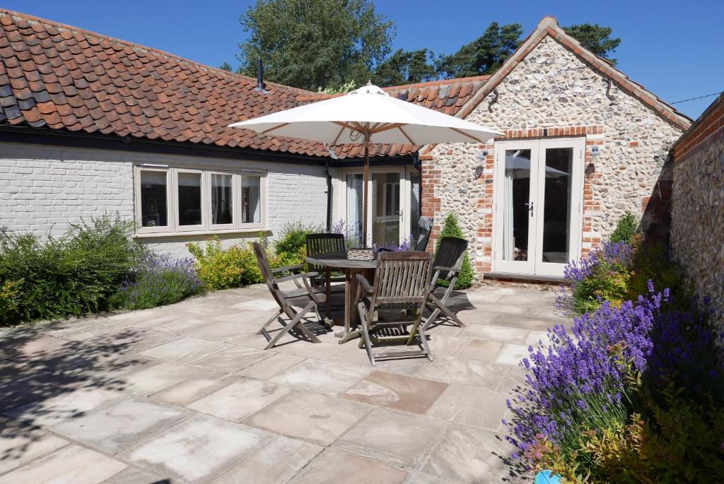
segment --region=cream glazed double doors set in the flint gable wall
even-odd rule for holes
[[[583,138],[495,145],[495,272],[563,276],[581,254]]]

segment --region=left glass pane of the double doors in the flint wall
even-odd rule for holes
[[[528,260],[531,150],[505,150],[502,259]]]

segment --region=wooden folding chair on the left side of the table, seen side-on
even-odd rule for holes
[[[258,242],[253,242],[253,247],[256,259],[259,263],[259,268],[261,269],[261,275],[264,277],[264,282],[266,283],[266,286],[269,287],[271,296],[274,297],[274,300],[277,301],[277,304],[279,305],[277,312],[274,313],[274,315],[271,316],[266,323],[264,323],[264,326],[261,326],[261,329],[256,332],[256,334],[264,335],[266,341],[269,342],[264,349],[273,348],[279,339],[289,333],[292,328],[298,328],[299,331],[301,331],[310,341],[313,343],[319,343],[319,339],[314,336],[311,331],[309,331],[309,328],[305,326],[302,320],[306,313],[310,310],[314,310],[317,320],[321,321],[317,305],[324,302],[325,297],[324,294],[315,292],[308,281],[312,277],[318,276],[318,274],[316,272],[306,272],[292,274],[291,276],[276,277],[276,273],[295,271],[303,268],[303,266],[287,266],[272,269],[269,267],[269,260],[266,258],[266,250],[264,250],[264,247],[262,247]],[[303,286],[299,284],[300,280],[303,281]],[[292,289],[291,291],[281,289],[279,287],[279,283],[285,281],[294,281],[297,285],[297,289]],[[301,307],[302,309],[296,310],[295,307]],[[288,323],[284,322],[282,315],[285,315],[289,319]],[[274,323],[275,320],[282,325],[282,330],[272,337],[267,328],[271,323]]]

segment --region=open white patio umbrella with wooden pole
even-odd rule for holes
[[[261,135],[314,140],[328,145],[364,143],[363,234],[367,234],[369,145],[487,143],[500,132],[391,97],[367,83],[347,95],[230,124]]]

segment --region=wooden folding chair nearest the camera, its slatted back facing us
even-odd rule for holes
[[[360,347],[365,347],[367,356],[372,365],[376,359],[425,356],[432,361],[432,354],[427,345],[424,328],[420,326],[422,310],[427,300],[430,281],[430,259],[427,252],[380,252],[377,260],[374,286],[362,274],[357,275],[358,310],[362,326],[362,339]],[[395,334],[394,336],[377,336],[384,334],[392,327],[402,328],[403,322],[373,320],[377,310],[414,310],[415,320],[408,334]],[[401,331],[401,330],[400,330]],[[389,334],[390,331],[387,331]],[[373,337],[374,336],[374,337]],[[372,340],[376,343],[391,340],[406,339],[410,345],[418,337],[422,349],[420,351],[384,352],[372,351]]]

